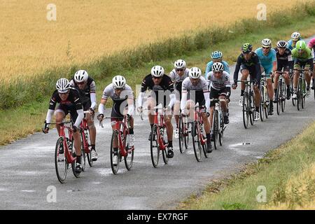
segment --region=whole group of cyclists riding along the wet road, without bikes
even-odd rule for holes
[[[165,126],[167,130],[167,158],[174,157],[173,147],[173,132],[172,116],[176,120],[175,138],[179,138],[179,117],[191,116],[191,109],[195,109],[195,105],[199,104],[200,116],[204,124],[204,131],[207,136],[207,153],[212,152],[211,139],[212,119],[214,111],[214,102],[211,99],[225,99],[221,101],[221,109],[223,112],[223,120],[228,124],[228,102],[230,102],[231,87],[237,88],[239,71],[241,71],[241,80],[247,80],[248,76],[254,81],[253,90],[255,92],[255,120],[259,118],[260,105],[260,78],[265,72],[267,76],[267,92],[269,99],[274,99],[276,92],[279,74],[276,71],[284,71],[283,78],[285,80],[287,90],[287,99],[290,99],[290,76],[294,70],[294,88],[293,98],[296,98],[297,78],[299,77],[298,69],[304,67],[311,72],[305,73],[307,81],[307,95],[309,95],[311,76],[314,83],[314,55],[311,53],[311,48],[315,50],[315,38],[307,44],[302,40],[299,33],[294,32],[292,39],[288,42],[279,41],[276,43],[276,48],[272,48],[272,41],[268,38],[262,40],[261,48],[253,52],[253,46],[250,43],[244,43],[241,46],[241,54],[237,58],[237,64],[234,72],[234,83],[230,82],[230,69],[227,62],[223,61],[223,54],[220,51],[211,53],[211,62],[207,64],[206,72],[202,76],[200,68],[187,68],[186,62],[183,59],[178,59],[174,63],[174,69],[167,75],[162,66],[156,65],[141,83],[141,92],[137,99],[137,111],[143,113],[144,99],[146,98],[146,108],[148,109],[148,122],[151,125],[151,130],[154,124],[155,107],[162,104],[165,109]],[[315,63],[315,61],[314,61]],[[274,87],[272,85],[274,78]],[[314,88],[314,84],[311,88]],[[69,81],[66,78],[57,80],[55,92],[50,99],[48,113],[45,119],[43,132],[48,133],[49,123],[52,116],[55,114],[57,123],[57,132],[59,134],[60,127],[58,123],[68,113],[73,121],[73,141],[76,149],[76,172],[82,171],[81,166],[81,140],[79,127],[85,117],[90,131],[90,149],[92,150],[92,160],[97,160],[97,152],[95,149],[96,128],[92,116],[95,113],[97,106],[96,86],[94,80],[88,75],[87,71],[77,71],[73,78]],[[147,92],[147,90],[150,90]],[[241,83],[241,98],[239,103],[242,104],[245,84]],[[147,93],[147,94],[146,94]],[[134,146],[134,92],[123,76],[113,77],[112,83],[104,88],[102,99],[98,106],[97,119],[102,121],[105,114],[105,106],[108,99],[113,100],[111,109],[111,126],[115,130],[116,120],[123,120],[126,116],[130,122],[130,146]],[[277,99],[274,99],[276,102]],[[55,110],[56,104],[59,104]],[[89,111],[90,113],[84,113]],[[273,100],[270,101],[269,115],[273,113]],[[149,136],[151,140],[151,133]],[[118,159],[118,147],[114,148],[114,155]],[[115,164],[117,161],[114,161]]]

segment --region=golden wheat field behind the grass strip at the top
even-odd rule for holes
[[[302,0],[298,1],[301,2]],[[56,6],[48,21],[47,6]],[[115,51],[293,7],[289,0],[1,0],[0,77],[90,62]]]

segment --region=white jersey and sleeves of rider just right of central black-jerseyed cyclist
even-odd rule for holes
[[[188,96],[189,92],[189,96]],[[199,106],[206,106],[209,109],[210,98],[208,83],[204,77],[200,77],[199,83],[193,85],[190,78],[185,78],[182,85],[182,98],[181,98],[181,109],[185,109],[187,99],[192,99],[196,104],[199,103]]]

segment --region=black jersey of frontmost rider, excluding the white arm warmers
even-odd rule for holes
[[[57,103],[59,103],[61,106],[76,109],[76,111],[83,109],[80,94],[78,90],[72,87],[69,90],[68,98],[64,101],[62,101],[62,99],[59,97],[58,91],[55,90],[49,102],[49,109],[55,110]]]

